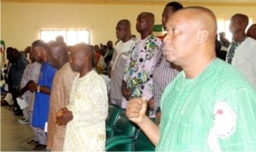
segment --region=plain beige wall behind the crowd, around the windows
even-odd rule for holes
[[[188,5],[188,4],[187,4]],[[207,5],[205,5],[207,6]],[[256,22],[253,6],[207,6],[222,18],[243,13]],[[88,28],[91,31],[91,43],[115,42],[115,25],[120,19],[131,20],[132,33],[135,30],[137,14],[149,11],[155,14],[156,24],[160,24],[163,5],[128,4],[72,4],[72,3],[2,3],[1,39],[6,46],[23,50],[38,39],[40,28]]]

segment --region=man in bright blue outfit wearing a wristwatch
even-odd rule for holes
[[[38,83],[30,82],[29,89],[35,93],[34,110],[32,115],[32,126],[37,127],[39,141],[33,149],[44,149],[47,144],[46,133],[49,114],[49,94],[55,76],[56,69],[48,63],[48,45],[41,41],[32,43],[32,53],[37,62],[41,63],[41,71]]]

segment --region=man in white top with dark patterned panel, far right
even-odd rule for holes
[[[256,41],[245,33],[248,21],[246,14],[234,14],[231,17],[233,42],[228,48],[226,61],[240,70],[256,89]]]

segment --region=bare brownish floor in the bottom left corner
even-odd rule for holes
[[[34,145],[26,144],[33,137],[32,129],[20,124],[20,118],[9,106],[1,106],[1,151],[34,151]]]

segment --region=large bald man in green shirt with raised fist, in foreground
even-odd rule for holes
[[[167,22],[163,53],[183,71],[161,97],[160,127],[145,115],[145,98],[126,115],[158,151],[255,151],[256,92],[241,73],[215,55],[216,17],[189,7]]]

